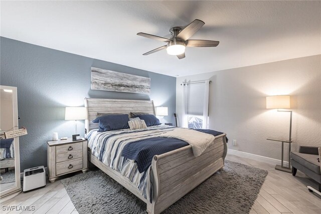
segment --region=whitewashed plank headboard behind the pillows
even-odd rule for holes
[[[121,113],[145,112],[155,114],[154,103],[151,100],[120,100],[120,99],[97,99],[85,98],[85,107],[87,107],[88,119],[85,120],[87,132],[98,128],[98,123],[93,123],[100,113]]]

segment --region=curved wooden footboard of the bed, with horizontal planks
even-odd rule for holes
[[[199,157],[194,156],[191,146],[155,155],[151,163],[153,200],[147,202],[147,212],[162,212],[221,169],[227,153],[225,136],[216,136]]]

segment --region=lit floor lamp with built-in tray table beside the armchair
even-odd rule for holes
[[[290,111],[290,110],[280,110],[280,109],[288,109],[290,107],[291,107],[290,106],[290,95],[276,95],[276,96],[268,96],[268,97],[266,97],[266,108],[267,109],[277,109],[278,112],[289,112],[290,113],[289,139],[288,140],[283,140],[283,139],[267,138],[267,140],[282,142],[281,165],[276,165],[275,169],[291,173],[290,151],[291,151],[291,143],[292,143],[292,141],[291,141],[292,111]],[[283,165],[284,143],[288,143],[289,144],[288,167],[284,167],[284,165]]]

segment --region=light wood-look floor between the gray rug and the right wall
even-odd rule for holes
[[[321,213],[321,197],[306,188],[310,185],[317,189],[317,183],[299,170],[292,176],[268,163],[230,154],[226,159],[269,172],[250,213]]]

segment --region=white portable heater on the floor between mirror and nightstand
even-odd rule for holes
[[[24,170],[24,192],[45,186],[46,171],[44,166],[38,166]]]

